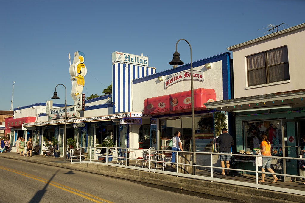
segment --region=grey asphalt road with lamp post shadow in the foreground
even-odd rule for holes
[[[14,159],[1,159],[0,183],[0,202],[236,202]]]

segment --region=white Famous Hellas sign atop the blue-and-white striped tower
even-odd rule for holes
[[[114,61],[148,66],[148,57],[138,56],[134,54],[127,54],[119,51],[115,51],[112,53],[112,62]]]

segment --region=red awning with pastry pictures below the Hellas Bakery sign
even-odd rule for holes
[[[216,93],[214,89],[194,89],[194,107],[196,110],[205,110],[203,103],[216,101]],[[191,90],[147,98],[144,100],[144,114],[173,114],[179,112],[190,112]]]

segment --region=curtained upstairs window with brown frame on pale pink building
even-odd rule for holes
[[[287,46],[254,54],[246,59],[248,86],[289,80]]]

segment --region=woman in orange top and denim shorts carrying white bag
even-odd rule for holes
[[[260,149],[255,149],[256,151],[260,151],[263,156],[271,156],[271,143],[269,142],[269,139],[266,134],[262,134],[261,138],[263,142],[260,143]],[[271,169],[271,157],[263,157],[262,158],[262,166],[260,167],[262,172],[265,172],[265,168],[268,170],[269,173],[274,173],[274,171]],[[271,183],[276,183],[278,178],[276,175],[272,174],[274,180]],[[265,182],[265,173],[262,173],[262,180],[259,180],[258,182],[264,183]]]

